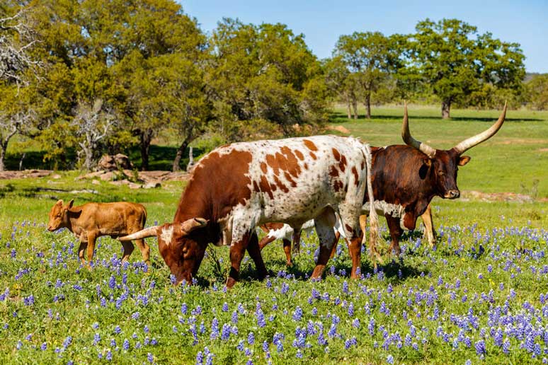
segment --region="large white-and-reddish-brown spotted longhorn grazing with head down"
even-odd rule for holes
[[[176,282],[191,282],[208,243],[230,245],[227,287],[239,279],[247,250],[261,277],[266,267],[255,227],[268,222],[301,227],[315,219],[320,254],[312,277],[321,277],[333,245],[336,213],[350,248],[352,275],[360,265],[359,216],[370,188],[370,149],[358,139],[315,136],[219,147],[202,158],[183,192],[173,223],[144,229],[120,241],[157,236]],[[377,238],[372,214],[370,245]]]

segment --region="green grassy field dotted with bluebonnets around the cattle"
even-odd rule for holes
[[[400,143],[401,111],[381,112],[371,122],[339,122],[373,145]],[[477,112],[455,110],[440,124],[430,112],[416,110],[411,130],[444,148],[498,114],[473,120]],[[138,250],[122,265],[120,243],[103,237],[87,270],[72,234],[45,229],[55,200],[38,187],[78,190],[89,182],[74,180],[77,172],[55,181],[0,181],[0,362],[546,363],[547,120],[546,113],[508,112],[501,132],[469,151],[472,161],[459,171],[461,190],[521,192],[533,202],[436,198],[437,248],[422,242],[419,227],[404,236],[400,257],[382,244],[378,270],[364,251],[359,280],[349,278],[345,245],[323,280],[308,279],[315,235],[303,237],[293,267],[285,267],[280,243],[263,250],[271,276],[262,282],[246,256],[241,282],[229,291],[227,248],[210,248],[193,286],[171,284],[155,239],[148,241],[151,267]],[[98,194],[55,198],[142,202],[152,225],[171,221],[183,188],[170,182],[135,191],[101,182],[93,185]],[[385,225],[382,236],[388,238]]]

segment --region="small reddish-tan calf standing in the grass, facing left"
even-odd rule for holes
[[[62,200],[58,200],[50,211],[50,223],[47,225],[48,231],[57,231],[59,228],[68,228],[69,231],[80,238],[80,247],[78,255],[82,264],[84,260],[84,250],[88,251],[88,261],[93,260],[93,249],[95,248],[96,238],[101,236],[110,236],[118,238],[130,233],[135,233],[144,227],[147,221],[147,209],[141,204],[128,202],[115,203],[86,203],[78,207],[72,207],[74,200],[67,205],[63,205]],[[135,241],[141,251],[144,262],[150,265],[150,248],[142,239]],[[124,254],[122,261],[127,261],[135,249],[131,241],[122,242]]]

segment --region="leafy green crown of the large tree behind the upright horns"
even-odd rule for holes
[[[419,22],[409,45],[416,71],[442,100],[444,118],[452,103],[489,104],[490,95],[481,92],[484,84],[515,89],[525,76],[517,43],[478,35],[476,27],[457,19]]]

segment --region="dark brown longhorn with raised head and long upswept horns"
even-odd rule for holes
[[[411,137],[407,105],[401,137],[406,145],[371,148],[373,196],[377,212],[387,219],[390,238],[389,251],[399,255],[399,238],[404,229],[413,230],[418,216],[424,214],[433,197],[456,199],[457,171],[470,161],[464,151],[493,137],[501,129],[506,117],[506,103],[498,120],[484,132],[465,139],[452,149],[433,149]],[[364,202],[367,202],[365,197]],[[367,209],[365,204],[364,208]],[[425,225],[432,225],[431,218]],[[433,229],[432,229],[433,231]],[[432,245],[433,241],[430,241]]]

